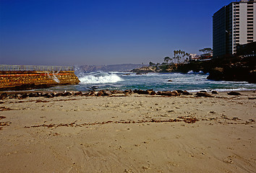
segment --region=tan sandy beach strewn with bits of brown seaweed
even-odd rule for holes
[[[4,99],[0,172],[256,172],[256,93],[194,95]]]

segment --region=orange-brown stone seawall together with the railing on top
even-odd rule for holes
[[[78,84],[73,66],[0,65],[0,90],[46,88]]]

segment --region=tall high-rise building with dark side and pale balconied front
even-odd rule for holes
[[[256,41],[256,0],[233,1],[213,14],[213,58],[236,53]]]

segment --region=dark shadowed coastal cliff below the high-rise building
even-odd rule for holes
[[[194,61],[190,63],[167,64],[159,66],[146,66],[133,69],[137,74],[169,73],[188,71],[203,71],[209,73],[208,79],[216,81],[248,81],[256,83],[256,57],[218,58],[210,61]]]

